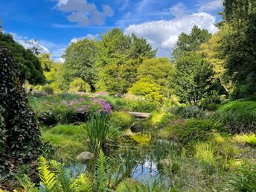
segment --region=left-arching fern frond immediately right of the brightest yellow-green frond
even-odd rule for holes
[[[51,161],[50,164],[56,171],[57,185],[60,185],[60,190],[63,192],[75,192],[70,170],[65,169],[64,164],[60,164],[57,161]]]

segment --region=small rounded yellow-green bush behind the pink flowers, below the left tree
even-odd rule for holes
[[[69,84],[69,92],[91,92],[91,86],[81,78],[75,78]]]

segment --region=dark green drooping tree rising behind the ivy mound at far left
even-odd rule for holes
[[[0,33],[0,47],[7,48],[12,52],[13,60],[16,61],[21,72],[20,80],[22,83],[25,80],[28,80],[33,85],[45,83],[45,77],[38,58],[30,50],[15,42],[10,34]]]

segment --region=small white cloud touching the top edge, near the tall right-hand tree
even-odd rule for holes
[[[211,11],[211,10],[218,10],[223,7],[223,2],[222,0],[204,0],[204,1],[199,1],[199,4],[197,4],[199,7],[199,11]]]

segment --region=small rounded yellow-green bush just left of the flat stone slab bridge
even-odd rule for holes
[[[129,115],[127,112],[113,112],[110,118],[110,124],[114,127],[127,129],[131,126],[132,120],[132,115]]]

